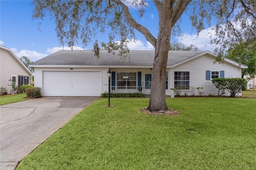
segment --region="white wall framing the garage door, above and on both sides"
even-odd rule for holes
[[[70,68],[73,68],[70,70]],[[76,68],[76,67],[35,67],[34,68],[34,86],[42,88],[42,94],[44,95],[43,87],[43,73],[44,71],[101,71],[101,91],[104,93],[108,91],[108,68]]]

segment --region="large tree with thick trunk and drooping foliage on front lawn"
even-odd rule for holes
[[[134,28],[143,34],[155,48],[150,94],[150,111],[168,109],[165,100],[165,81],[171,33],[179,34],[182,14],[188,14],[191,26],[197,33],[212,26],[214,52],[222,56],[232,43],[255,37],[256,1],[254,0],[87,0],[87,1],[41,1],[32,2],[33,18],[43,19],[50,15],[56,23],[56,33],[61,44],[73,46],[81,40],[84,45],[108,30],[109,43],[119,40],[119,55],[127,55],[127,42],[134,40]],[[134,17],[129,8],[136,8]],[[139,23],[150,8],[158,11],[157,37]],[[187,11],[186,11],[187,10]],[[186,12],[185,12],[186,11]],[[97,46],[97,45],[96,45]],[[111,46],[111,45],[110,45]],[[114,46],[114,45],[113,45]]]

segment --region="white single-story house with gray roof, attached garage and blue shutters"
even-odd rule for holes
[[[166,95],[171,95],[171,88],[191,86],[204,87],[204,95],[217,95],[212,78],[241,77],[241,68],[247,68],[229,59],[214,64],[215,57],[210,51],[169,51]],[[102,50],[95,61],[92,50],[60,50],[30,65],[34,85],[42,87],[44,96],[100,96],[108,92],[111,69],[111,93],[150,94],[154,51],[130,51],[120,59]]]

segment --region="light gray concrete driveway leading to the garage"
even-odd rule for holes
[[[99,97],[42,97],[0,106],[0,169],[25,156]]]

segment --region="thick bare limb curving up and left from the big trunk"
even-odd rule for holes
[[[126,6],[120,0],[114,0],[114,2],[116,2],[116,4],[118,4],[118,5],[120,5],[122,7],[122,9],[124,10],[124,16],[126,17],[126,19],[129,22],[129,24],[133,28],[138,30],[140,33],[142,33],[145,36],[146,40],[148,42],[150,42],[154,47],[156,47],[156,38],[150,33],[150,31],[146,27],[142,26],[141,24],[136,22],[134,20],[134,18],[132,18],[132,15],[129,12],[128,6]]]

